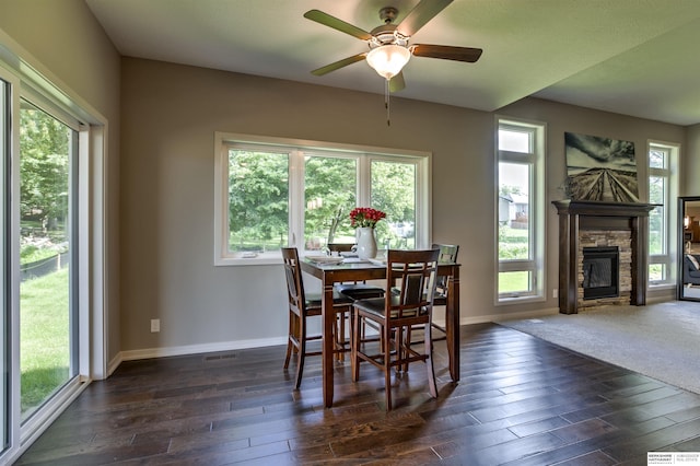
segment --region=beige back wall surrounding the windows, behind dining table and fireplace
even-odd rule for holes
[[[381,82],[377,82],[377,88]],[[546,302],[494,306],[495,115],[548,126]],[[279,266],[213,267],[214,131],[433,153],[433,240],[462,245],[463,322],[552,310],[563,132],[685,143],[673,125],[528,98],[497,114],[127,58],[122,62],[122,350],[285,335]],[[640,167],[640,174],[644,171]],[[149,321],[161,319],[161,333]]]

